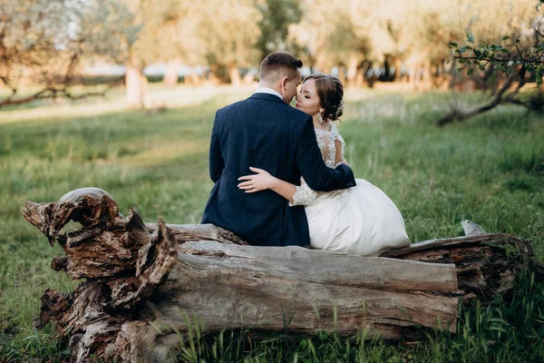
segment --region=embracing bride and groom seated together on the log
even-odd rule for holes
[[[257,246],[377,256],[408,245],[393,201],[355,180],[345,162],[345,142],[332,123],[343,113],[342,83],[331,74],[302,83],[301,67],[290,54],[269,54],[257,92],[216,113],[209,146],[215,185],[202,223]]]

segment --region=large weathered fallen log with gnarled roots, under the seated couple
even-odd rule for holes
[[[369,336],[411,338],[418,327],[455,331],[460,297],[485,300],[512,289],[521,261],[497,245],[531,251],[528,240],[505,234],[415,243],[388,251],[393,259],[251,247],[211,225],[144,223],[133,209],[125,218],[95,188],[53,203],[28,201],[22,211],[63,247],[53,269],[86,280],[69,294],[48,289],[36,321],[56,324],[72,361],[162,360],[193,316],[205,332],[351,335],[365,328]],[[69,221],[82,229],[61,233]]]

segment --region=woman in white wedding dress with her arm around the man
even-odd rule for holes
[[[295,107],[314,117],[317,144],[329,168],[345,162],[344,139],[331,123],[342,115],[343,97],[344,87],[332,74],[307,76],[296,95]],[[296,186],[265,170],[250,170],[255,174],[240,177],[239,189],[248,193],[269,189],[286,198],[290,206],[306,206],[311,248],[378,256],[410,244],[401,212],[384,191],[364,179],[357,179],[354,188],[317,192],[304,179]]]

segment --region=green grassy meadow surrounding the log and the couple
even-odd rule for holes
[[[198,223],[207,201],[208,144],[221,105],[250,89],[173,93],[152,90],[164,113],[126,112],[122,100],[45,103],[0,112],[0,361],[60,361],[66,352],[53,327],[35,330],[46,288],[74,282],[50,269],[60,254],[22,218],[25,201],[56,201],[83,186],[109,191],[121,213],[135,206],[145,221]],[[461,235],[460,221],[485,231],[533,240],[544,260],[544,121],[501,107],[443,129],[432,124],[452,99],[480,94],[349,90],[344,122],[346,158],[358,178],[382,188],[403,213],[411,240]],[[514,302],[461,309],[459,333],[427,333],[405,345],[333,335],[290,342],[281,336],[252,347],[244,334],[195,336],[192,361],[542,361],[544,290],[521,278]],[[214,353],[215,352],[215,353]]]

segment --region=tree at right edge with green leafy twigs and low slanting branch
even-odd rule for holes
[[[454,61],[461,64],[457,69],[459,73],[466,70],[468,75],[485,74],[489,76],[489,82],[500,79],[501,84],[493,89],[491,99],[473,110],[464,111],[452,109],[452,112],[443,116],[437,123],[443,126],[454,121],[463,121],[474,115],[485,113],[504,103],[520,104],[529,110],[535,108],[541,110],[544,95],[541,90],[534,96],[539,99],[537,102],[529,100],[529,103],[521,100],[519,97],[521,87],[529,82],[530,74],[534,76],[537,84],[542,84],[544,76],[544,34],[542,34],[543,21],[538,15],[539,5],[544,0],[539,0],[536,6],[536,13],[532,10],[534,0],[526,2],[524,7],[517,13],[518,18],[512,16],[510,19],[510,35],[504,34],[504,27],[497,26],[500,22],[494,22],[494,32],[491,41],[481,36],[477,31],[481,26],[475,26],[476,31],[471,29],[466,34],[467,45],[460,46],[455,42],[450,42]],[[530,5],[529,5],[530,4]],[[524,19],[525,22],[520,21]],[[527,21],[528,19],[529,22]],[[528,25],[531,25],[532,30]],[[476,45],[479,44],[479,45]],[[498,74],[500,74],[498,76]],[[486,77],[487,78],[487,77]],[[536,107],[535,107],[536,105]]]

